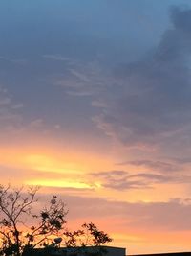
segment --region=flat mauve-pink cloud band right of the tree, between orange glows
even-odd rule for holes
[[[60,193],[66,195],[65,190]],[[126,231],[131,227],[147,232],[189,231],[191,228],[189,198],[172,198],[166,202],[125,202],[106,198],[65,196],[64,200],[70,209],[70,219],[116,220],[117,225],[112,226],[112,232]]]

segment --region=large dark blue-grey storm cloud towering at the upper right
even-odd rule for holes
[[[126,145],[155,145],[190,132],[191,10],[173,8],[170,18],[155,51],[117,67],[117,93],[110,92],[107,107],[94,118]]]

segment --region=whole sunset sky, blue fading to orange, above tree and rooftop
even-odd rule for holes
[[[191,251],[190,0],[0,1],[0,175],[128,254]]]

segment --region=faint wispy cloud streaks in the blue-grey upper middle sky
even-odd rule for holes
[[[99,95],[106,95],[107,89],[114,83],[105,65],[97,61],[83,61],[74,58],[46,56],[51,60],[64,61],[64,72],[53,78],[54,85],[61,86],[71,96],[93,97],[93,106],[97,106]],[[58,59],[57,59],[58,58]]]

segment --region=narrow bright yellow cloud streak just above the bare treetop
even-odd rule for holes
[[[26,173],[28,174],[26,176]],[[94,182],[88,182],[82,175],[70,173],[56,173],[52,170],[38,171],[30,167],[11,167],[9,164],[0,163],[1,183],[8,182],[16,185],[37,185],[48,189],[59,190],[66,189],[68,193],[73,192],[90,192],[96,189]]]

